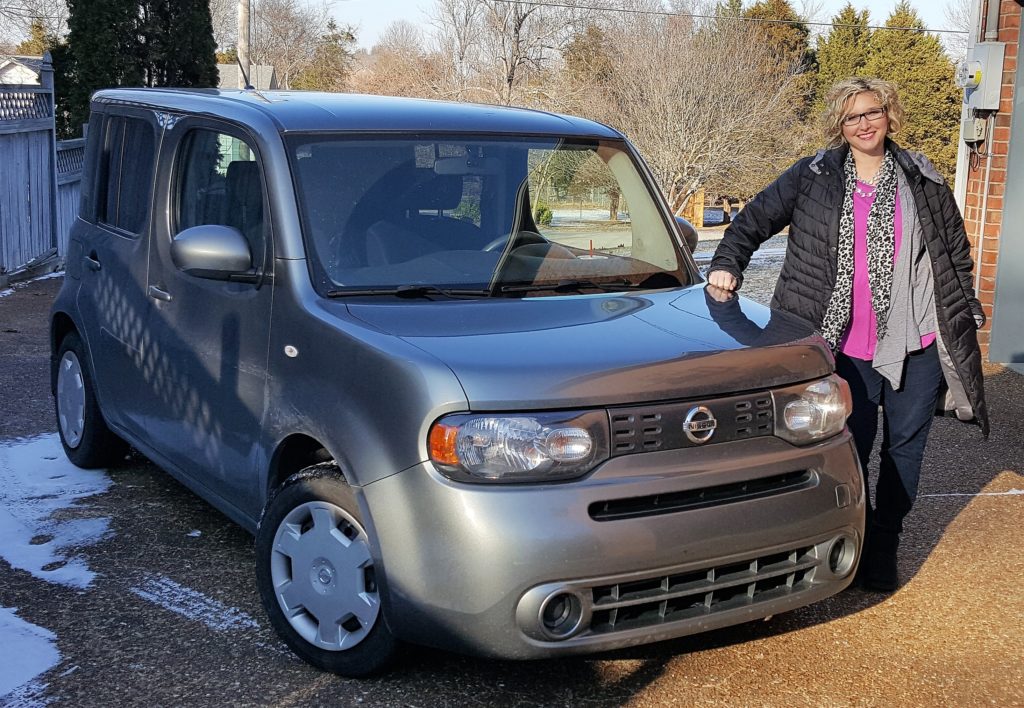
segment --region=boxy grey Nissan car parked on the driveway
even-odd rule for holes
[[[100,91],[65,450],[130,446],[255,534],[269,622],[343,675],[800,608],[858,561],[849,389],[806,323],[712,297],[685,226],[579,118]]]

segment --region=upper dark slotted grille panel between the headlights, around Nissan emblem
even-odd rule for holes
[[[692,442],[683,431],[686,414],[696,406],[708,408],[718,423],[714,434],[703,444]],[[773,434],[775,428],[772,398],[767,391],[710,401],[613,408],[608,417],[612,456],[761,438]]]

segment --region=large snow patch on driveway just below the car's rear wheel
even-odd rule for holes
[[[95,573],[74,548],[110,534],[110,518],[61,518],[80,499],[102,494],[111,480],[79,469],[63,454],[56,433],[0,442],[0,557],[36,578],[88,587]]]

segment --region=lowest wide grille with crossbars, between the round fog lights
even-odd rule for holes
[[[596,634],[693,620],[807,590],[818,564],[814,546],[726,566],[652,576],[591,589]]]

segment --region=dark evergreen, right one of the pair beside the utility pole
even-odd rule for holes
[[[142,0],[139,18],[145,86],[217,85],[217,46],[207,0]]]

